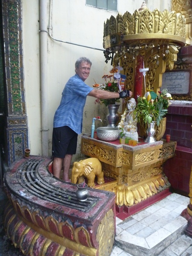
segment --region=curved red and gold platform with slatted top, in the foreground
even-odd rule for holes
[[[79,202],[76,185],[48,171],[51,162],[44,156],[21,158],[5,173],[8,237],[25,255],[108,256],[116,232],[115,194],[88,188],[87,201]]]

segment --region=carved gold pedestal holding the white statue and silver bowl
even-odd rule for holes
[[[117,206],[133,206],[170,187],[162,165],[174,156],[175,141],[133,147],[83,135],[81,146],[83,154],[100,160],[104,176],[114,180],[95,188],[115,192]]]

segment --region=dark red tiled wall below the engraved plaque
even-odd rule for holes
[[[172,192],[188,196],[192,166],[192,105],[171,105],[167,114],[166,134],[177,141],[175,157],[164,164],[164,173]]]

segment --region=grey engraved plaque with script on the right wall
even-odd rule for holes
[[[191,90],[191,71],[172,71],[165,72],[162,77],[161,91],[167,88],[168,92],[174,94],[190,94]]]

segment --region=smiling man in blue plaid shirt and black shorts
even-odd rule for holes
[[[70,181],[68,172],[72,155],[76,154],[77,135],[82,132],[83,109],[87,95],[98,99],[114,99],[131,97],[132,92],[108,92],[91,88],[84,81],[90,74],[92,62],[85,58],[79,58],[75,63],[75,76],[69,78],[65,85],[61,102],[57,108],[53,120],[52,156],[53,175],[60,178],[63,167],[65,181]]]

